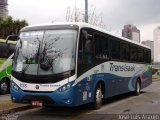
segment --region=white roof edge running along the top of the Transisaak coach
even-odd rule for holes
[[[133,43],[135,45],[142,46],[142,47],[150,49],[150,47],[148,47],[146,45],[142,45],[140,43],[137,43],[137,42],[135,42],[133,40],[130,40],[130,39],[127,39],[125,37],[115,35],[111,32],[106,31],[105,29],[102,29],[102,28],[99,28],[97,26],[91,25],[89,23],[84,23],[84,22],[55,22],[55,23],[46,23],[46,24],[36,24],[36,25],[30,25],[30,26],[24,27],[24,28],[21,29],[21,31],[24,31],[26,29],[36,28],[36,27],[51,27],[51,26],[77,26],[77,27],[79,27],[79,29],[81,29],[81,28],[92,28],[92,29],[95,29],[97,31],[100,31],[100,32],[106,33],[108,35],[111,35],[112,37],[116,37],[116,38],[119,38],[121,40]]]

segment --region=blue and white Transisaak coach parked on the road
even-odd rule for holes
[[[38,106],[79,106],[152,83],[151,50],[87,23],[35,25],[20,31],[11,99]]]

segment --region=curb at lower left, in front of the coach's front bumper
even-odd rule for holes
[[[10,113],[19,112],[19,111],[23,111],[23,110],[27,110],[27,109],[31,109],[31,108],[33,108],[33,106],[26,105],[26,106],[22,106],[22,107],[15,107],[15,108],[6,109],[6,110],[0,110],[0,116],[10,114]]]

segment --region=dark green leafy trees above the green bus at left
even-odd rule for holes
[[[0,18],[0,38],[5,39],[8,35],[17,35],[19,30],[28,23],[26,20],[13,20],[11,16]]]

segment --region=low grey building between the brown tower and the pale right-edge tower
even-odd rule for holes
[[[151,58],[153,61],[153,59],[154,59],[154,47],[153,47],[154,41],[146,40],[146,41],[142,41],[142,44],[151,48]]]

